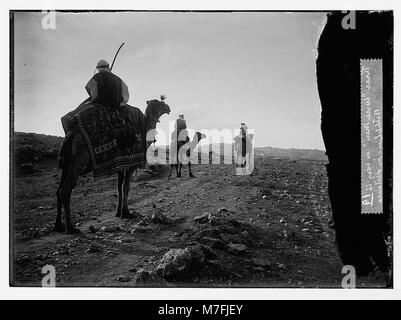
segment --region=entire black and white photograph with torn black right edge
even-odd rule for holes
[[[392,10],[28,8],[11,287],[393,288]]]

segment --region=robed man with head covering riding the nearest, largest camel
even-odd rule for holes
[[[106,60],[100,60],[96,64],[97,73],[88,81],[85,86],[89,97],[84,100],[74,113],[78,113],[90,104],[98,103],[110,108],[116,108],[126,105],[129,99],[128,86],[123,80],[111,72],[109,63]],[[59,155],[68,144],[69,139],[73,137],[75,130],[70,130],[65,136],[60,147]],[[60,160],[60,157],[59,157]]]

